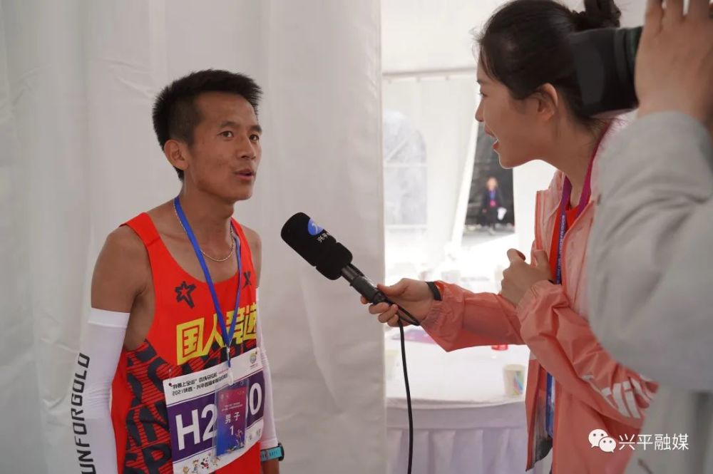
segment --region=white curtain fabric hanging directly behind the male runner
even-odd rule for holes
[[[66,393],[93,262],[178,192],[150,109],[202,68],[265,89],[236,217],[262,235],[283,472],[386,472],[381,327],[279,239],[307,212],[383,279],[379,1],[0,0],[1,473],[78,472]]]

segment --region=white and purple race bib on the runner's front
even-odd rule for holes
[[[173,473],[212,473],[260,440],[265,400],[260,348],[234,357],[230,366],[223,362],[163,381]]]

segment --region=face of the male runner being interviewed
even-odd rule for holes
[[[248,199],[262,154],[255,110],[229,93],[202,93],[195,103],[201,120],[188,148],[185,181],[226,200]]]

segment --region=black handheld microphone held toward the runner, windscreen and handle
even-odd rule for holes
[[[374,282],[352,264],[352,252],[349,252],[347,247],[337,242],[337,239],[323,227],[319,227],[304,212],[297,212],[290,217],[282,226],[280,235],[289,247],[307,260],[312,267],[316,267],[324,277],[331,280],[344,277],[349,282],[349,286],[356,289],[371,304],[394,304],[376,288]],[[419,326],[419,321],[408,311],[400,308],[399,312],[404,313],[399,314],[401,319]]]

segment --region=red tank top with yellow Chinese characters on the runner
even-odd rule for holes
[[[257,345],[255,268],[242,227],[233,221],[241,242],[242,290],[230,355]],[[148,251],[153,274],[155,311],[145,341],[123,349],[111,386],[111,418],[120,473],[173,473],[168,411],[163,393],[166,378],[208,369],[225,359],[225,345],[205,282],[178,265],[163,244],[148,214],[127,222]],[[220,308],[232,319],[237,275],[215,283]],[[227,323],[229,326],[230,324]],[[216,471],[260,474],[260,443]]]

